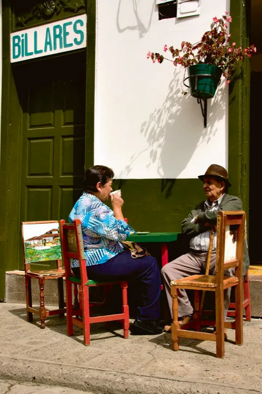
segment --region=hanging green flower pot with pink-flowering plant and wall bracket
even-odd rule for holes
[[[172,59],[157,52],[149,51],[146,55],[153,63],[161,64],[164,60],[168,60],[174,66],[188,68],[189,76],[183,79],[183,83],[186,87],[190,87],[191,96],[197,98],[201,105],[204,127],[206,127],[207,99],[214,97],[221,75],[223,74],[225,84],[228,85],[236,65],[257,52],[254,45],[242,48],[237,47],[235,42],[230,43],[231,34],[228,33],[228,24],[231,22],[232,17],[226,12],[222,18],[213,18],[210,30],[205,32],[201,40],[195,44],[182,41],[179,48],[165,45],[163,50],[169,51]],[[185,84],[186,80],[189,80],[189,86]],[[187,94],[184,90],[181,93]]]

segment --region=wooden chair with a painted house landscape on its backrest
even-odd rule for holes
[[[45,320],[48,316],[64,316],[63,276],[65,271],[62,267],[61,247],[59,237],[59,224],[57,220],[44,222],[22,222],[23,250],[26,279],[27,321],[33,321],[33,313],[41,319],[40,328],[45,328]],[[56,260],[56,269],[31,270],[31,263],[48,263]],[[40,309],[32,307],[31,278],[38,279],[40,288]],[[58,305],[55,310],[47,310],[45,307],[44,287],[47,279],[58,280]]]

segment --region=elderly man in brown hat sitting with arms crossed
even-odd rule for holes
[[[216,225],[218,211],[240,211],[242,201],[238,197],[230,196],[228,188],[231,186],[228,180],[227,170],[218,164],[211,164],[204,175],[199,179],[203,181],[206,200],[202,201],[191,211],[186,219],[183,220],[182,233],[189,239],[189,253],[182,255],[173,262],[166,264],[161,271],[166,295],[172,317],[172,296],[170,294],[171,280],[184,278],[186,276],[205,272],[207,251],[210,239],[211,227]],[[216,262],[216,231],[211,255],[209,274],[215,274]],[[244,248],[244,274],[249,266],[247,246]],[[233,276],[234,268],[225,270],[225,276]],[[224,317],[226,320],[227,311],[230,304],[230,289],[224,294]],[[178,313],[180,324],[188,323],[193,314],[192,305],[188,299],[186,291],[179,289],[178,294]],[[164,331],[171,331],[171,324],[164,327]],[[225,332],[226,336],[226,332]]]

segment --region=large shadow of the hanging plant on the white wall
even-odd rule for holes
[[[148,151],[149,161],[143,163],[143,167],[157,164],[160,178],[177,178],[200,145],[203,154],[205,149],[214,149],[214,146],[208,147],[206,144],[217,134],[219,121],[225,116],[224,88],[223,82],[215,97],[207,100],[205,129],[200,104],[190,93],[186,96],[181,94],[180,78],[174,77],[162,107],[155,109],[141,125],[140,132],[146,138],[147,147],[131,156],[130,163],[123,168],[119,178],[126,178],[133,164]],[[201,160],[201,152],[194,160]]]

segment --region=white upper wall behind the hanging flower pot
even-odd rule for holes
[[[196,178],[209,164],[228,166],[224,81],[204,129],[197,99],[180,93],[184,68],[146,59],[164,44],[199,41],[228,10],[229,0],[202,0],[200,16],[159,21],[155,0],[97,0],[95,164],[124,179]]]

